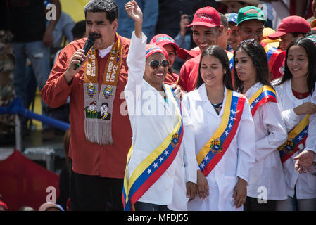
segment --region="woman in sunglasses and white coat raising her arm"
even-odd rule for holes
[[[135,30],[124,91],[133,134],[122,195],[124,210],[187,210],[187,201],[196,193],[192,124],[182,118],[185,112],[180,112],[170,87],[163,84],[168,54],[160,46],[146,46],[136,1],[127,2],[125,9]]]

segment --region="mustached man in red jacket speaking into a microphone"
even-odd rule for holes
[[[87,56],[83,50],[87,38],[65,46],[41,95],[52,108],[70,96],[70,209],[123,210],[123,177],[132,143],[122,94],[130,40],[116,32],[118,6],[113,0],[89,1],[84,13],[86,33],[94,36],[94,45]],[[75,70],[77,63],[81,64]],[[110,117],[95,116],[102,105],[108,105]]]

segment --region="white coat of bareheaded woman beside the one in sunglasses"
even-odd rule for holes
[[[224,106],[220,111],[220,115],[217,115],[210,101],[208,101],[205,84],[184,96],[182,108],[187,109],[194,124],[196,155],[220,126],[226,96],[227,89],[225,88]],[[238,181],[237,177],[239,176],[248,182],[249,171],[254,163],[255,127],[249,103],[246,100],[234,139],[220,162],[206,176],[210,196],[206,200],[201,200],[198,197],[194,198],[188,203],[188,210],[236,210],[236,206],[233,206],[234,200],[232,197],[234,187]],[[198,167],[197,162],[196,167]],[[243,207],[239,207],[237,210],[243,210]]]

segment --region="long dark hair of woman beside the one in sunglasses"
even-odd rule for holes
[[[229,68],[229,60],[227,57],[227,53],[224,49],[222,49],[218,45],[209,46],[207,49],[205,49],[202,52],[200,64],[198,65],[198,79],[196,81],[196,89],[198,89],[202,84],[204,84],[204,81],[201,77],[201,64],[202,64],[202,58],[205,56],[214,56],[220,60],[220,63],[222,64],[222,68],[226,71],[223,76],[223,84],[227,89],[232,90],[232,75]]]

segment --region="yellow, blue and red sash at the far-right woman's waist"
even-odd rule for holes
[[[287,137],[287,141],[278,148],[282,164],[296,153],[303,144],[305,146],[306,138],[308,137],[308,124],[310,115],[306,115],[299,124],[296,125]]]

